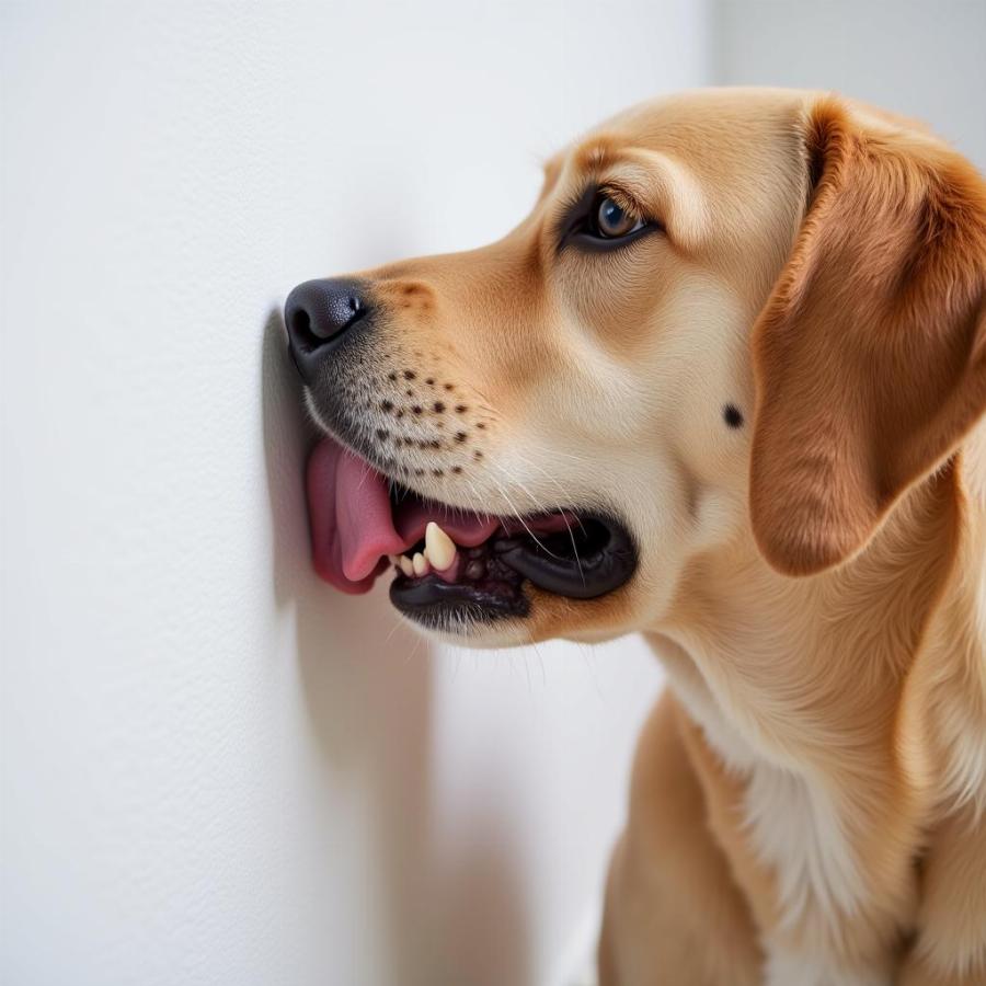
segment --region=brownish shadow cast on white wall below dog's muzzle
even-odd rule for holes
[[[331,796],[368,799],[370,869],[379,874],[371,896],[382,907],[360,938],[388,956],[390,983],[530,984],[519,862],[491,822],[496,806],[434,814],[428,645],[398,621],[380,588],[344,596],[311,567],[302,471],[317,436],[277,309],[264,329],[262,400],[275,598],[278,608],[295,606],[300,680],[326,775],[358,775],[358,784],[336,784]],[[326,862],[322,878],[330,883],[351,872]],[[365,890],[340,886],[333,894],[366,899]],[[325,939],[332,933],[326,928]]]

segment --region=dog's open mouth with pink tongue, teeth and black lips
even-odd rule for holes
[[[308,502],[319,574],[365,593],[394,571],[393,605],[434,629],[526,617],[528,585],[596,598],[637,569],[630,532],[607,514],[507,518],[425,500],[331,438],[309,460]]]

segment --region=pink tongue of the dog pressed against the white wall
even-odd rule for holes
[[[308,513],[314,566],[344,593],[368,592],[435,520],[459,546],[472,548],[500,526],[495,517],[451,511],[409,496],[391,507],[387,480],[368,462],[325,438],[308,460]]]

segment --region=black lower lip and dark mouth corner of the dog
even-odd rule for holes
[[[483,560],[479,580],[447,583],[399,574],[390,599],[405,616],[435,630],[466,622],[523,619],[530,612],[526,586],[573,599],[594,599],[624,585],[637,571],[638,553],[629,531],[605,516],[583,515],[571,531],[537,538],[496,537],[470,558]]]

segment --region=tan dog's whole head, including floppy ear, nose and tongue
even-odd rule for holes
[[[316,564],[395,567],[405,616],[496,644],[655,626],[744,538],[840,564],[983,413],[984,257],[982,180],[913,125],[782,91],[632,110],[500,242],[291,293],[332,436]]]

